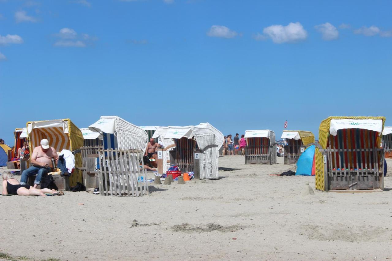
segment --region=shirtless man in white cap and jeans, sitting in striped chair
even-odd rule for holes
[[[42,175],[52,171],[52,158],[58,161],[58,155],[53,147],[49,146],[47,139],[41,140],[41,146],[35,147],[31,155],[33,166],[22,172],[20,184],[25,185],[29,176],[37,175],[34,181],[34,188],[41,184]]]

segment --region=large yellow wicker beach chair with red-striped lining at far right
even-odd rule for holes
[[[384,117],[328,117],[319,127],[316,189],[383,190]]]

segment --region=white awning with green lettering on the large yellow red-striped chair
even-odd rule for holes
[[[372,119],[342,119],[342,120],[331,120],[329,127],[329,134],[336,136],[338,130],[342,129],[366,129],[382,132],[383,120],[372,120]]]

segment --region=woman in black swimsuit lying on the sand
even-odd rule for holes
[[[49,188],[33,188],[30,185],[20,185],[19,181],[14,178],[11,171],[5,171],[3,177],[3,195],[19,195],[19,196],[46,196],[46,194],[64,195],[64,192],[57,192]]]

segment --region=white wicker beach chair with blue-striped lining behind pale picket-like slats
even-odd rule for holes
[[[97,171],[100,193],[117,196],[124,193],[128,196],[139,195],[138,192],[130,191],[139,191],[137,180],[141,178],[145,184],[143,191],[148,193],[145,169],[139,171],[147,147],[147,132],[118,116],[101,116],[89,129],[102,134],[103,139],[103,148],[98,149],[96,163],[99,165]]]

